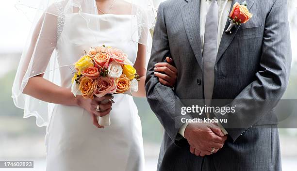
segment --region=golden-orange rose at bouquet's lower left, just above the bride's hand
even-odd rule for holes
[[[96,80],[94,81],[93,79],[86,78],[86,77],[81,78],[80,90],[81,90],[82,96],[84,98],[93,99],[96,89],[97,89],[97,81]]]

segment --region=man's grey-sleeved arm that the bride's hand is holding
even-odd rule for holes
[[[183,106],[179,97],[172,88],[160,83],[158,77],[154,76],[154,64],[163,62],[166,54],[170,54],[169,42],[164,19],[163,3],[160,4],[157,22],[153,34],[151,57],[148,63],[146,76],[147,99],[150,108],[158,117],[170,139],[175,143],[181,138],[178,134],[182,126],[181,118],[192,119],[190,115],[181,115]]]

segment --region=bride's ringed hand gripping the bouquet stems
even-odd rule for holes
[[[93,124],[98,128],[104,128],[104,126],[98,124],[97,116],[102,117],[110,113],[112,110],[113,96],[111,94],[106,94],[101,98],[94,96],[94,99],[85,99],[81,95],[78,95],[76,99],[78,106],[87,110],[92,115]],[[106,104],[101,104],[101,101],[106,99],[110,101]],[[96,111],[98,105],[101,111]]]

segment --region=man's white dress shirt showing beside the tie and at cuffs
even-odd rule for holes
[[[208,12],[208,9],[211,5],[212,0],[201,0],[200,1],[200,37],[201,37],[201,45],[202,45],[202,54],[203,54],[203,45],[204,45],[204,33],[205,33],[205,22],[206,22],[206,15]],[[228,19],[230,8],[232,5],[232,0],[217,0],[217,3],[219,5],[219,23],[218,23],[218,32],[217,32],[217,50],[220,46],[220,42],[223,36],[223,33],[225,32],[225,25],[226,21]],[[184,131],[189,123],[185,123],[181,126],[179,129],[179,134],[181,134],[182,137],[184,137]],[[224,127],[217,123],[218,126],[222,129],[222,132],[226,135],[228,134],[227,131],[224,129]]]

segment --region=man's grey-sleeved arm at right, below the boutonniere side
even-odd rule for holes
[[[215,114],[235,141],[247,128],[273,109],[288,85],[291,67],[291,43],[286,0],[276,0],[266,17],[260,71],[231,102],[234,113]],[[236,128],[236,129],[232,129]]]

